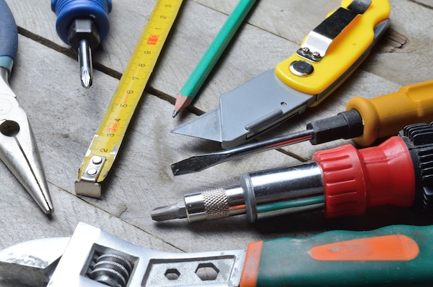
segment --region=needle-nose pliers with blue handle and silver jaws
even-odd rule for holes
[[[8,83],[17,54],[18,32],[4,0],[0,0],[0,19],[0,159],[48,215],[54,208],[35,135]]]

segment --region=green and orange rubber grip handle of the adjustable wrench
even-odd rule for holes
[[[432,236],[433,226],[387,226],[255,242],[240,286],[431,286]]]

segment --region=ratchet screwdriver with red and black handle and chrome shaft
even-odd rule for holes
[[[156,221],[202,221],[246,214],[248,221],[324,210],[327,218],[362,215],[368,206],[433,208],[433,127],[406,126],[380,146],[350,143],[320,150],[312,160],[241,175],[240,184],[184,196],[152,210]]]

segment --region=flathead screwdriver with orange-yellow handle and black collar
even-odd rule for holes
[[[172,164],[172,172],[174,175],[199,172],[224,161],[308,140],[315,145],[336,139],[353,139],[360,146],[369,146],[376,139],[396,135],[411,123],[433,121],[432,95],[433,80],[430,80],[403,86],[374,99],[353,97],[345,112],[312,121],[306,125],[306,130],[183,159]]]

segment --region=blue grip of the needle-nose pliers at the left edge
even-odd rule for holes
[[[0,67],[12,72],[18,49],[18,32],[8,4],[0,0]]]

